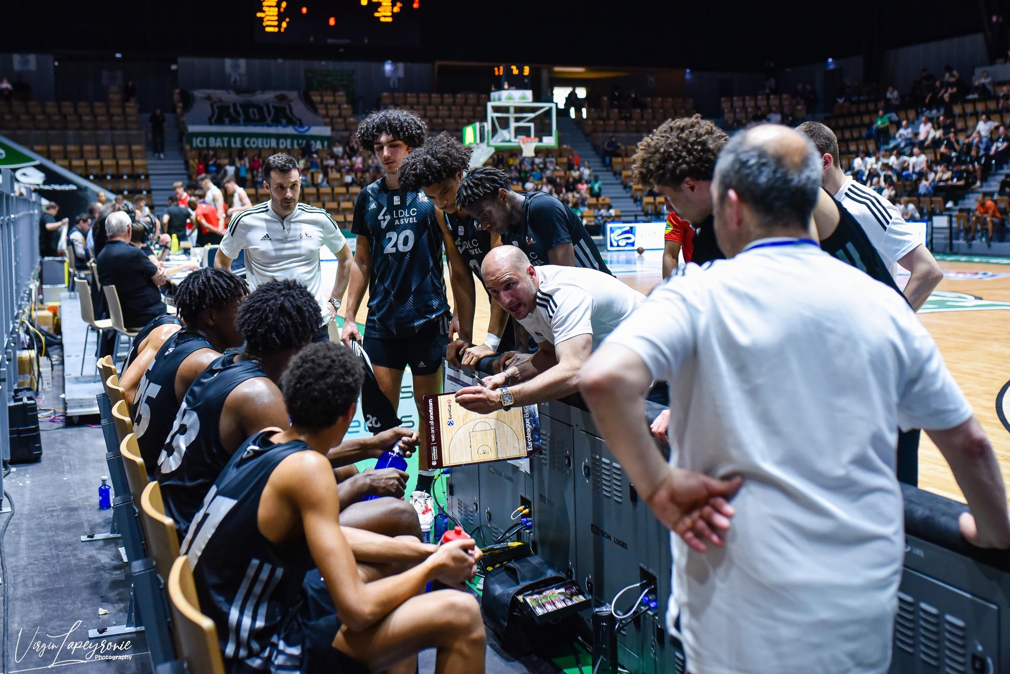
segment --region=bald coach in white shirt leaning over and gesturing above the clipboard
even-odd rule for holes
[[[488,292],[533,335],[533,357],[486,377],[485,386],[456,393],[463,407],[487,413],[512,405],[557,400],[579,389],[579,369],[611,330],[645,299],[595,269],[541,265],[514,246],[484,259]]]

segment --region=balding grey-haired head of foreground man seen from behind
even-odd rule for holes
[[[809,138],[777,124],[734,135],[715,165],[715,235],[727,257],[752,240],[806,236],[821,184]]]

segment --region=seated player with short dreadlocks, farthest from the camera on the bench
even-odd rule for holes
[[[245,281],[223,269],[200,269],[179,284],[176,308],[185,327],[148,360],[138,358],[120,383],[132,401],[133,431],[148,477],[153,477],[172,419],[190,384],[225,349],[242,343],[235,326]],[[137,383],[139,381],[139,383]]]

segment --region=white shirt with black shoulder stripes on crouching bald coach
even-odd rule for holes
[[[595,269],[558,265],[534,269],[540,282],[536,308],[519,323],[538,343],[558,345],[592,334],[595,351],[645,299],[637,290]]]

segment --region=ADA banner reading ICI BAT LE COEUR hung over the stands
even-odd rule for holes
[[[329,146],[329,126],[297,91],[194,89],[184,100],[186,141],[194,150]]]

